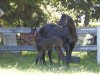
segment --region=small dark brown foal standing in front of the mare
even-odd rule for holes
[[[42,55],[44,50],[52,50],[53,48],[56,49],[56,52],[58,54],[58,63],[60,63],[60,60],[62,59],[62,62],[64,63],[64,54],[61,50],[63,42],[60,38],[57,37],[51,37],[51,38],[43,38],[38,31],[35,30],[34,33],[34,40],[36,42],[36,48],[38,50],[38,55],[36,58],[35,64],[37,64],[38,60],[40,60],[42,64]],[[45,64],[45,62],[43,62]]]

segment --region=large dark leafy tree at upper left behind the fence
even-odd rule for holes
[[[46,15],[40,9],[42,0],[0,0],[5,12],[2,24],[6,26],[39,26],[46,22]]]

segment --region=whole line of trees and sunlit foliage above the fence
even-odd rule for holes
[[[70,15],[76,24],[85,15],[83,26],[100,20],[100,0],[0,0],[0,8],[5,12],[0,18],[4,27],[57,23],[61,13]]]

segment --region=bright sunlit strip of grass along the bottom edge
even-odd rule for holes
[[[66,72],[42,72],[39,70],[27,70],[20,71],[17,69],[0,69],[0,75],[96,75],[93,72],[74,72],[74,73],[66,73]]]

